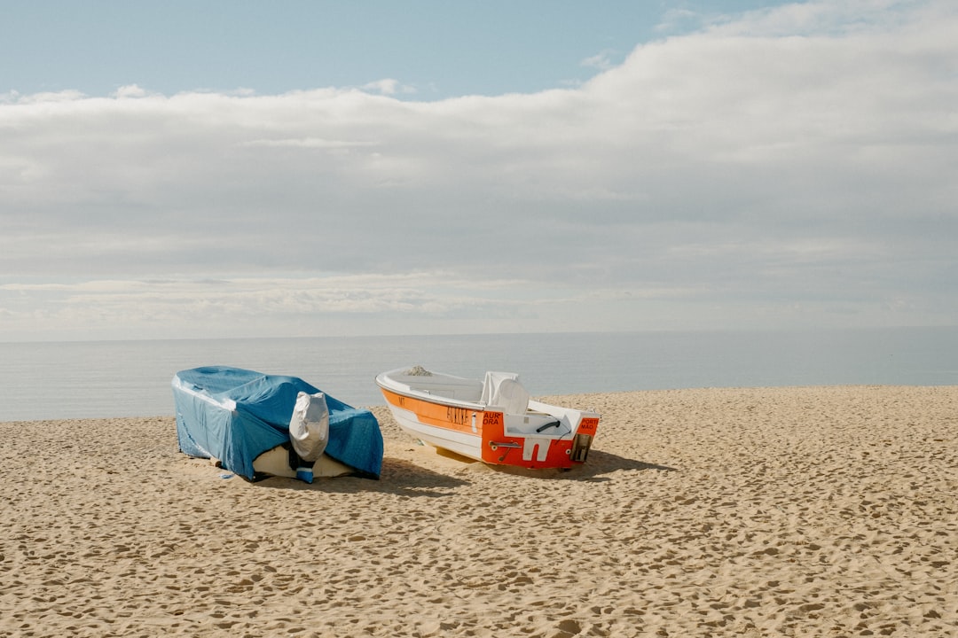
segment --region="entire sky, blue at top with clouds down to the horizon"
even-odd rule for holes
[[[0,341],[958,324],[951,0],[0,11]]]

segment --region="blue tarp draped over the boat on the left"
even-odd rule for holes
[[[289,442],[289,419],[300,392],[322,390],[297,377],[237,367],[207,366],[172,381],[180,451],[217,458],[230,472],[254,480],[253,461]],[[326,395],[330,440],[326,453],[373,478],[382,469],[382,433],[373,413]]]

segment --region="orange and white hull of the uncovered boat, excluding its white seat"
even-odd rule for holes
[[[379,375],[376,384],[399,428],[433,447],[491,465],[571,468],[585,461],[598,429],[595,412],[529,401],[521,414],[509,413],[417,390],[396,382],[390,376],[396,372]]]

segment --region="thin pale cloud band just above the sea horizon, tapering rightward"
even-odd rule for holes
[[[456,333],[481,331],[480,318],[521,325],[624,298],[614,290],[530,295],[530,288],[524,280],[477,285],[442,272],[12,283],[0,285],[0,328],[57,339],[311,335],[317,326],[364,334],[370,325],[379,334]]]

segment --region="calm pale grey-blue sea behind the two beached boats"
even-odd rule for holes
[[[689,387],[958,385],[958,327],[212,341],[0,342],[0,421],[172,415],[200,365],[301,377],[355,407],[376,374],[518,372],[533,396]]]

